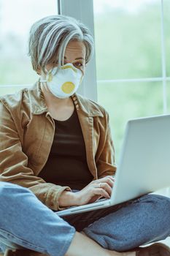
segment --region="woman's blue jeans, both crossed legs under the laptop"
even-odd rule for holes
[[[117,206],[58,217],[33,193],[0,182],[0,247],[63,256],[75,230],[106,249],[123,252],[170,236],[170,199],[144,195]]]

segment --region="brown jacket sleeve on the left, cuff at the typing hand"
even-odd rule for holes
[[[22,150],[20,135],[11,113],[0,101],[0,181],[7,181],[31,189],[47,207],[60,210],[58,199],[64,190],[61,187],[46,183],[42,178],[34,176],[28,167],[28,157]]]

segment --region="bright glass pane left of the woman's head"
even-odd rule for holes
[[[29,29],[36,20],[57,13],[56,0],[0,0],[0,85],[37,80],[27,55]]]

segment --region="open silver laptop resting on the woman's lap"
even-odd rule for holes
[[[78,214],[123,203],[170,187],[170,115],[129,120],[109,199],[57,211]]]

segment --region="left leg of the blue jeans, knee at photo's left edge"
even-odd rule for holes
[[[63,256],[75,229],[41,203],[30,190],[0,182],[0,247],[27,248]]]

